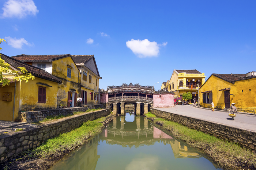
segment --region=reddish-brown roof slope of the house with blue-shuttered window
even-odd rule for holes
[[[21,62],[52,62],[54,60],[58,60],[61,58],[65,58],[71,56],[70,54],[60,54],[60,55],[16,55],[12,56],[12,58],[15,58],[16,60],[19,60]]]

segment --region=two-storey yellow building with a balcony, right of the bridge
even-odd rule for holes
[[[197,70],[173,70],[173,74],[170,78],[168,91],[174,92],[174,99],[181,97],[185,92],[191,92],[192,98],[198,100],[198,86],[204,84],[204,73]],[[191,99],[190,103],[193,103]]]

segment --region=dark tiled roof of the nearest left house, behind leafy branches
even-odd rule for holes
[[[1,54],[1,53],[0,53]],[[46,80],[50,80],[52,82],[57,82],[57,83],[61,83],[61,80],[56,78],[55,76],[51,75],[50,73],[42,70],[41,68],[37,68],[34,66],[31,66],[29,64],[20,62],[19,60],[16,60],[14,58],[11,58],[9,56],[6,56],[4,54],[1,54],[1,58],[3,60],[5,60],[5,62],[7,62],[8,64],[10,64],[12,67],[16,68],[17,70],[19,70],[18,67],[25,67],[27,70],[27,73],[31,73],[33,74],[35,77],[41,78],[41,79],[46,79]]]

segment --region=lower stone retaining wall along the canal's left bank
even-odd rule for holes
[[[95,120],[110,114],[109,109],[74,115],[44,124],[29,130],[18,131],[0,136],[0,163],[10,160],[27,149],[34,149],[46,140],[78,128],[88,120]]]

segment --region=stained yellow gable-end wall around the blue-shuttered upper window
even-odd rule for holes
[[[68,67],[71,68],[71,78],[67,77]],[[68,103],[68,92],[70,91],[70,88],[75,89],[77,97],[80,97],[80,71],[76,67],[76,64],[74,63],[71,57],[53,61],[52,74],[57,78],[60,78],[62,81],[62,83],[58,85],[58,97],[61,99],[63,103]],[[59,105],[62,102],[60,102],[60,100],[58,99],[57,105]]]

